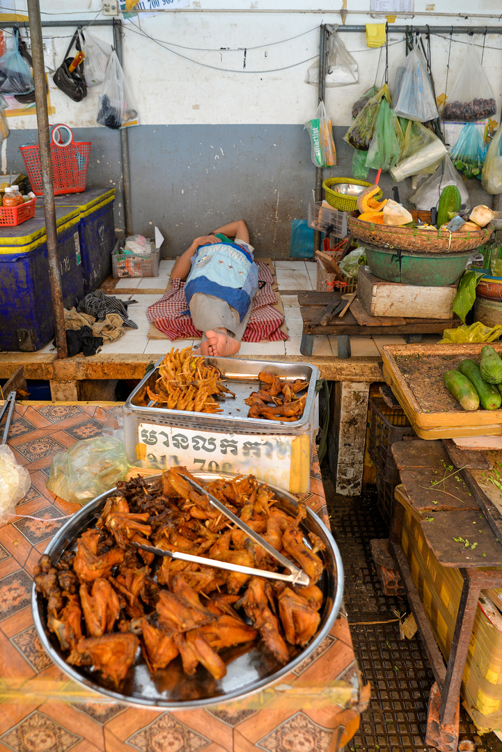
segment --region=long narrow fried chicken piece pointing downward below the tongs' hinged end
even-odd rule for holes
[[[289,651],[280,635],[277,617],[271,611],[271,602],[271,586],[260,577],[252,577],[240,603],[265,645],[280,663],[285,664],[289,661]]]

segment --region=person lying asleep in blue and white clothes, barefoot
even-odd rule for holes
[[[171,280],[186,281],[192,321],[204,332],[197,353],[238,352],[258,290],[253,250],[246,223],[237,220],[195,238],[174,264]]]

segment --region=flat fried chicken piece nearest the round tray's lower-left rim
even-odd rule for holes
[[[139,644],[138,637],[131,632],[83,638],[67,660],[71,666],[92,666],[117,687],[135,662]]]

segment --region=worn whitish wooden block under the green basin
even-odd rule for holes
[[[382,280],[371,274],[369,267],[359,267],[358,299],[370,316],[452,319],[456,292],[455,284],[447,287],[416,287]]]

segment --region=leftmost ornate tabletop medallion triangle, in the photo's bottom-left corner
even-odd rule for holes
[[[14,752],[68,752],[82,741],[82,737],[72,734],[44,713],[35,711],[2,734],[0,741]]]

